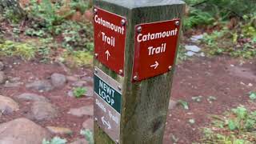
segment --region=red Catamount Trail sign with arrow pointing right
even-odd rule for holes
[[[170,71],[174,65],[179,19],[135,26],[133,82]]]

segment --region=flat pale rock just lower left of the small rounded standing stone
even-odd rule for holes
[[[26,84],[26,88],[38,91],[50,91],[53,90],[53,86],[51,86],[50,82],[42,80],[42,81],[35,81]]]

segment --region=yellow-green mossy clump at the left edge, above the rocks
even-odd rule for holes
[[[25,60],[35,57],[37,49],[26,43],[5,41],[0,43],[0,55],[18,56]]]

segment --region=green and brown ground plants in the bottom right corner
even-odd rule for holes
[[[225,116],[213,116],[212,124],[203,129],[202,143],[251,144],[256,142],[256,112],[238,106]]]

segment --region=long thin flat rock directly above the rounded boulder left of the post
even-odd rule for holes
[[[23,101],[50,102],[50,100],[45,98],[44,96],[32,93],[20,94],[16,98]]]

